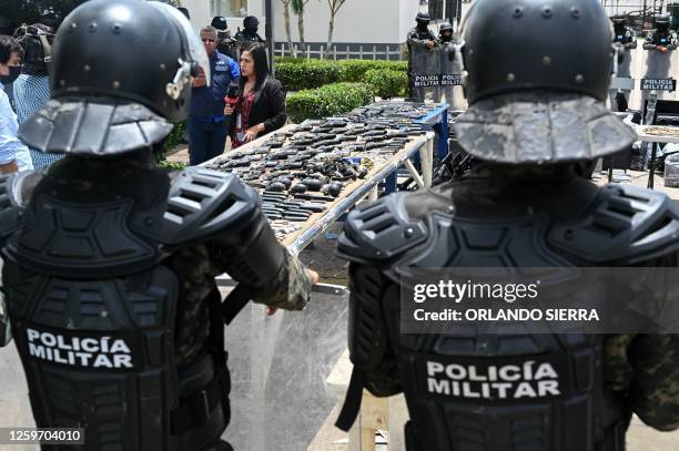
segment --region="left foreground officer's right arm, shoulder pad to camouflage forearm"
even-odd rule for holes
[[[183,171],[170,188],[162,233],[164,243],[206,242],[217,269],[254,291],[256,301],[302,309],[308,300],[306,268],[276,239],[256,193],[233,174]]]

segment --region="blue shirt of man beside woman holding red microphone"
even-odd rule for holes
[[[241,78],[241,68],[231,58],[214,51],[210,59],[210,73],[212,83],[210,86],[193,88],[191,96],[192,117],[205,121],[224,121],[224,98],[232,81]]]

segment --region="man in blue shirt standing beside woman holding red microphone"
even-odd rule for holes
[[[224,98],[229,84],[241,78],[239,64],[216,50],[219,40],[214,28],[203,28],[201,40],[210,57],[211,83],[207,86],[203,73],[193,81],[191,113],[186,122],[191,165],[201,164],[224,152],[227,135]]]

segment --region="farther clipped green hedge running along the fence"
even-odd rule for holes
[[[367,71],[393,70],[406,73],[406,61],[373,60],[305,60],[284,58],[276,64],[276,78],[286,91],[301,91],[323,86],[330,83],[361,83]]]

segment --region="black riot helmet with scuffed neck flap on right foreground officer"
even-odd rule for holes
[[[634,141],[604,103],[614,48],[598,0],[477,0],[464,30],[469,109],[455,131],[472,155],[513,164],[592,160]]]

